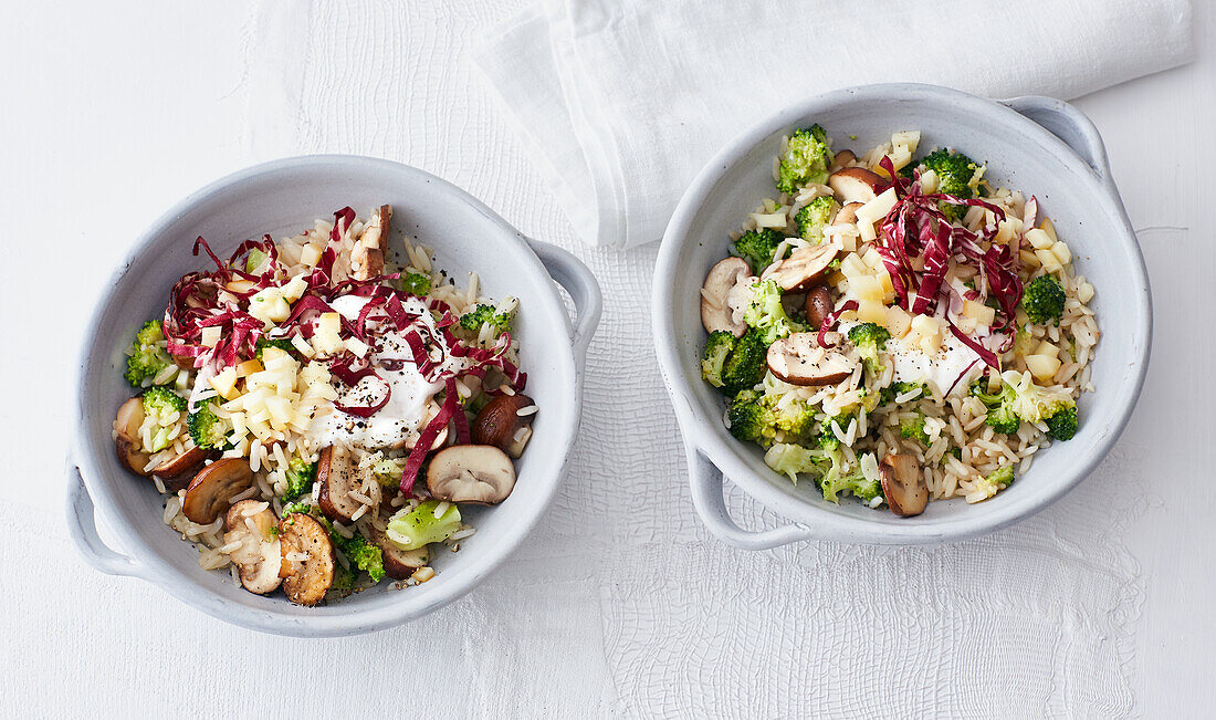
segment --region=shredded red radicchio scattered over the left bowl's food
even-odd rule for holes
[[[524,389],[528,377],[506,359],[511,348],[510,333],[502,333],[490,348],[466,345],[452,332],[451,327],[460,319],[451,308],[437,299],[426,299],[430,313],[439,316],[438,321],[423,319],[418,313],[406,309],[404,300],[413,298],[410,293],[387,285],[396,280],[398,274],[378,275],[368,280],[344,280],[333,282],[333,266],[342,249],[342,238],[355,221],[355,212],[347,207],[333,214],[333,230],[313,271],[304,276],[305,291],[292,303],[287,320],[277,324],[276,338],[299,336],[309,339],[315,334],[316,319],[326,313],[334,313],[332,302],[343,296],[367,298],[366,304],[355,321],[342,316],[339,337],[356,338],[367,344],[371,350],[379,348],[378,334],[385,331],[400,332],[410,347],[412,362],[429,382],[441,382],[445,398],[439,412],[420,433],[418,441],[411,450],[406,467],[401,473],[401,489],[411,493],[422,462],[426,460],[435,438],[449,424],[455,426],[456,441],[469,443],[468,418],[461,406],[457,393],[457,379],[462,377],[484,378],[485,372],[494,367],[502,372],[507,387],[514,392]],[[260,272],[244,270],[242,258],[253,251],[260,251],[266,260]],[[169,305],[164,315],[164,334],[169,353],[176,356],[191,358],[195,367],[209,365],[213,371],[236,365],[242,360],[254,358],[258,341],[265,333],[265,324],[250,315],[242,304],[258,292],[276,287],[285,282],[286,272],[278,258],[278,248],[269,235],[261,240],[242,242],[232,255],[224,261],[216,255],[202,237],[195,241],[193,254],[207,254],[215,269],[184,275],[169,292]],[[216,327],[219,339],[214,347],[203,344],[203,331]],[[407,360],[393,359],[382,362],[387,370],[400,370]],[[383,383],[383,393],[368,393],[368,401],[359,405],[334,403],[334,406],[355,417],[371,417],[384,407],[390,398],[392,388],[381,377],[367,359],[356,358],[353,353],[342,353],[327,359],[333,377],[349,387],[359,384],[367,377]],[[486,388],[490,394],[500,394],[500,388]],[[373,396],[375,395],[375,396]]]

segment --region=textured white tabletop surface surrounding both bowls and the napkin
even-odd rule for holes
[[[378,154],[575,244],[469,62],[473,38],[520,5],[10,12],[0,61],[19,71],[0,78],[0,361],[19,382],[0,421],[0,716],[1210,713],[1216,485],[1201,450],[1216,439],[1216,347],[1194,328],[1216,271],[1206,4],[1195,64],[1077,103],[1141,231],[1158,325],[1118,449],[1036,518],[939,549],[714,541],[693,516],[649,348],[654,248],[593,249],[580,253],[606,317],[569,478],[531,540],[465,600],[372,636],[278,640],[78,559],[60,506],[73,331],[130,237],[186,192],[282,154]],[[744,523],[776,522],[728,500]],[[368,681],[381,690],[361,696]]]

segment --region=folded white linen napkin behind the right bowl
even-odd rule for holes
[[[1187,62],[1189,0],[540,0],[474,62],[578,235],[658,240],[736,134],[812,95],[924,81],[1071,99]]]

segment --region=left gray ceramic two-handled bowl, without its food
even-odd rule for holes
[[[226,572],[201,569],[193,546],[162,524],[161,495],[119,467],[111,423],[131,394],[122,378],[123,349],[140,324],[164,310],[178,277],[206,264],[190,254],[196,236],[226,255],[247,237],[278,237],[348,204],[366,213],[382,203],[393,206],[394,230],[432,247],[437,265],[458,282],[475,271],[488,294],[520,299],[516,334],[528,394],[541,410],[528,452],[517,462],[519,483],[501,505],[471,512],[477,534],[458,553],[440,552],[432,563],[438,575],[424,585],[398,591],[384,583],[316,608],[252,595]],[[574,300],[573,326],[554,280]],[[135,242],[88,325],[68,461],[68,528],[98,570],[156,583],[208,614],[255,630],[351,635],[423,615],[482,581],[524,540],[552,499],[579,426],[582,359],[599,310],[599,287],[574,255],[524,237],[463,190],[422,170],[372,158],[313,156],[224,178],[165,213]],[[94,504],[120,551],[98,538]]]

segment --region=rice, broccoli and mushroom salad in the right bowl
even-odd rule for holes
[[[702,377],[724,423],[823,497],[902,517],[979,502],[1079,424],[1100,333],[1035,196],[894,133],[857,156],[783,137],[777,196],[731,234],[700,294]]]

